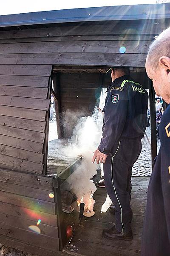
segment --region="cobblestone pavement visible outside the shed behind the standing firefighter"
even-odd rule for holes
[[[159,151],[160,142],[157,139],[157,151]],[[151,143],[150,143],[150,127],[147,127],[144,138],[142,139],[141,154],[133,165],[134,176],[150,176],[152,172],[151,163]]]

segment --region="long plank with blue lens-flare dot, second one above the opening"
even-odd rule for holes
[[[150,41],[122,41],[121,46],[126,47],[127,53],[145,53],[147,54]],[[41,49],[41,50],[40,50]],[[120,41],[56,41],[56,42],[30,42],[0,44],[0,54],[13,53],[63,53],[63,52],[101,52],[101,53],[119,53]]]

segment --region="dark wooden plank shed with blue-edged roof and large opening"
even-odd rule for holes
[[[151,42],[169,26],[170,3],[0,16],[0,243],[49,256],[64,246],[60,184],[80,159],[50,171],[51,93],[60,148],[70,136],[62,112],[83,107],[89,115],[96,89],[111,82],[106,71],[130,67],[150,90],[155,157],[155,95],[144,66]],[[28,230],[39,219],[41,235]]]

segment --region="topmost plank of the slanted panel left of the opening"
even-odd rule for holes
[[[0,75],[50,76],[51,65],[2,65]]]

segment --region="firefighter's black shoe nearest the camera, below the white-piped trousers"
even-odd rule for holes
[[[130,241],[133,239],[132,230],[130,230],[129,232],[120,233],[119,231],[116,230],[115,225],[111,228],[107,228],[107,229],[103,230],[103,236],[105,238],[112,239],[112,240]]]

